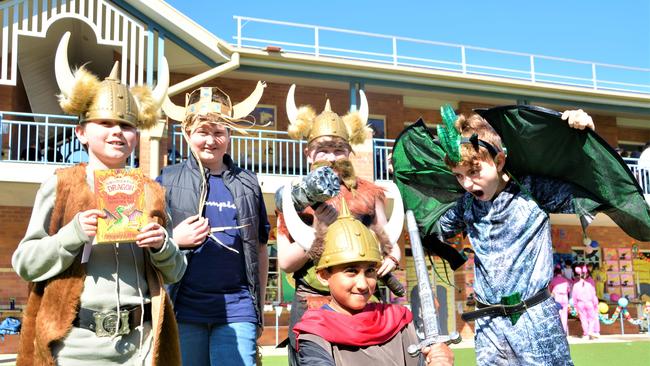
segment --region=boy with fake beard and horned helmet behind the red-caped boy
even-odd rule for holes
[[[325,110],[316,115],[309,106],[296,108],[294,101],[295,85],[287,96],[287,114],[290,126],[289,135],[294,139],[307,139],[305,155],[314,170],[331,167],[340,181],[340,194],[327,200],[316,209],[306,207],[298,216],[293,205],[287,205],[291,198],[283,194],[282,212],[278,212],[278,263],[283,271],[294,273],[296,293],[291,306],[289,325],[289,362],[296,363],[295,336],[291,331],[304,311],[310,307],[319,307],[323,296],[329,295],[327,286],[316,279],[314,261],[323,250],[323,238],[327,226],[334,222],[340,209],[341,199],[345,198],[352,214],[369,226],[379,237],[382,244],[381,265],[377,269],[379,277],[389,274],[399,265],[401,256],[397,238],[401,234],[404,212],[399,194],[390,222],[384,211],[384,190],[373,182],[356,177],[349,160],[351,145],[362,143],[370,128],[368,120],[368,103],[361,91],[359,112],[339,117],[330,108],[329,100]],[[310,174],[312,174],[310,173]],[[284,191],[287,192],[285,187]],[[285,208],[286,207],[286,208]]]

